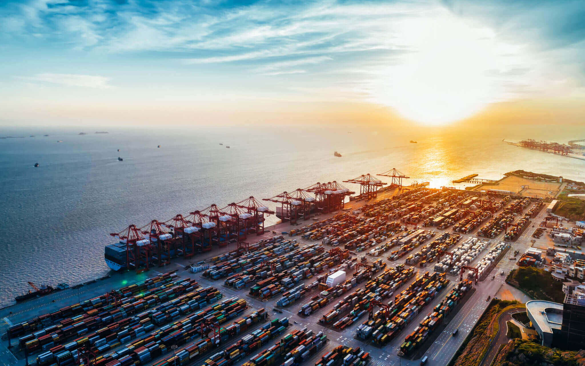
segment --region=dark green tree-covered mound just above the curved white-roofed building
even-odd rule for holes
[[[563,284],[555,281],[550,272],[546,272],[541,268],[518,268],[511,275],[510,284],[523,290],[535,300],[562,303],[563,299],[565,299]]]

